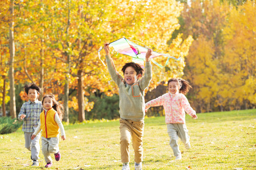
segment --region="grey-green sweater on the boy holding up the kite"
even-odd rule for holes
[[[119,113],[126,120],[143,120],[145,116],[144,90],[152,79],[152,66],[146,62],[144,76],[133,85],[123,83],[123,77],[115,70],[112,58],[106,56],[106,63],[111,78],[119,87]]]

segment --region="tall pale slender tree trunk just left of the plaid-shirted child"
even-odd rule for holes
[[[14,86],[14,57],[15,57],[15,44],[14,44],[14,0],[10,5],[11,21],[9,23],[9,48],[10,48],[10,61],[9,61],[9,79],[10,79],[10,116],[16,118],[16,103],[15,103],[15,86]]]

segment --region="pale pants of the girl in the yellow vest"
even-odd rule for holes
[[[51,154],[56,154],[57,152],[59,152],[59,137],[42,137],[42,152],[46,163],[52,162]]]

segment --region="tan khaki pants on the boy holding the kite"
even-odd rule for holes
[[[143,131],[144,120],[133,121],[120,119],[120,145],[121,145],[121,162],[129,163],[129,146],[131,138],[133,140],[134,162],[140,163],[143,159]]]

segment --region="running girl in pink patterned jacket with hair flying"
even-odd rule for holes
[[[188,129],[185,125],[185,112],[192,118],[196,119],[196,111],[194,111],[188,103],[185,94],[191,86],[186,80],[172,78],[168,80],[168,93],[146,103],[146,111],[150,107],[163,105],[166,113],[167,132],[170,137],[170,146],[174,151],[176,160],[181,159],[181,152],[177,139],[180,137],[185,148],[190,148]],[[185,111],[185,112],[184,112]]]

